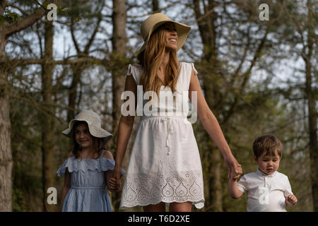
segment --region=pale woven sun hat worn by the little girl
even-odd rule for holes
[[[69,128],[62,132],[65,136],[71,137],[71,131],[76,121],[86,121],[90,134],[97,138],[104,138],[105,143],[110,141],[112,138],[111,133],[102,129],[100,116],[91,110],[83,110],[83,112],[78,113],[76,117],[69,122]]]

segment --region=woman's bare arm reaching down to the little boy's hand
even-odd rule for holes
[[[192,101],[192,95],[191,95],[192,91],[196,92],[196,96],[197,96],[196,112],[198,113],[201,124],[204,126],[204,129],[206,129],[211,139],[216,143],[216,146],[222,153],[225,163],[228,166],[228,169],[229,169],[228,178],[230,178],[230,174],[232,170],[234,170],[236,174],[235,178],[238,178],[240,173],[240,169],[239,169],[240,165],[238,164],[235,157],[232,155],[230,147],[228,146],[228,143],[225,141],[223,133],[220,129],[220,125],[218,124],[218,120],[216,119],[214,114],[211,112],[211,109],[208,107],[208,104],[206,103],[206,99],[204,98],[204,95],[201,90],[199,79],[195,75],[193,69],[192,69],[192,75],[191,75],[190,86],[189,86],[189,98],[191,101]]]

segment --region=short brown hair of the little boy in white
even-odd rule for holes
[[[283,154],[283,145],[281,141],[278,140],[273,135],[264,135],[259,136],[255,139],[253,143],[253,151],[254,155],[258,158],[260,157],[264,152],[265,155],[276,155],[278,154],[281,158]]]

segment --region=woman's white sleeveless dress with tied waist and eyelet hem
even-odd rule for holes
[[[193,64],[180,63],[176,87],[178,92],[175,95],[182,105],[172,101],[171,88],[161,86],[160,102],[157,104],[153,102],[152,110],[164,115],[143,114],[141,117],[131,150],[120,209],[160,202],[187,201],[191,201],[196,208],[204,206],[199,149],[192,124],[187,120],[189,112],[187,92],[192,69],[194,69]],[[194,72],[197,73],[196,69]],[[136,84],[139,85],[141,66],[129,65],[126,76],[133,76]],[[164,104],[164,100],[167,100],[167,104]],[[137,115],[140,110],[145,109],[147,101],[143,100],[143,108],[137,105]]]

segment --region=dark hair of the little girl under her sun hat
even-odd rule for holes
[[[73,129],[71,130],[71,145],[70,145],[70,150],[71,153],[77,158],[79,157],[80,155],[80,152],[81,152],[81,146],[78,145],[78,143],[76,142],[75,140],[75,129],[76,129],[76,126],[79,126],[80,124],[87,124],[86,121],[76,121],[74,124],[73,124]],[[90,136],[92,136],[90,134]],[[93,138],[93,148],[95,149],[95,152],[98,153],[98,155],[100,155],[100,153],[102,153],[102,150],[105,150],[105,139],[104,138],[98,138],[98,137],[95,137],[95,136],[92,136]]]

